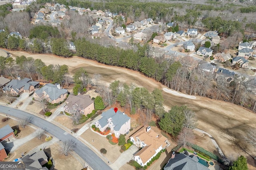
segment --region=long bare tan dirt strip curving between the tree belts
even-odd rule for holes
[[[108,83],[114,80],[131,83],[134,82],[138,86],[143,86],[152,91],[154,88],[164,88],[162,84],[156,82],[151,78],[143,76],[139,72],[120,68],[115,66],[107,66],[97,63],[95,61],[82,59],[79,57],[62,58],[54,55],[31,55],[19,51],[11,51],[13,56],[25,55],[26,57],[34,57],[35,59],[42,59],[46,64],[58,63],[67,64],[70,73],[74,73],[74,69],[79,67],[86,68],[89,73],[100,73],[103,78],[102,81]],[[197,97],[196,100],[185,99],[163,92],[164,104],[168,107],[174,105],[186,105],[196,112],[198,117],[198,128],[210,133],[217,141],[220,148],[226,156],[232,154],[244,154],[250,158],[248,154],[241,152],[236,146],[232,146],[230,139],[232,137],[241,137],[245,135],[247,129],[255,129],[255,113],[244,109],[243,107],[230,104],[228,102],[212,100],[208,98]],[[250,154],[255,156],[256,152],[250,150]]]

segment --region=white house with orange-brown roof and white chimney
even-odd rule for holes
[[[160,150],[170,146],[170,142],[163,135],[159,135],[151,127],[142,127],[130,136],[131,142],[142,148],[134,155],[134,160],[141,166],[146,165]]]

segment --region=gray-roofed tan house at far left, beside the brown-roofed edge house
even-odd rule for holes
[[[6,84],[6,86],[4,86],[3,92],[18,96],[23,92],[30,93],[39,86],[39,82],[33,82],[30,78],[21,79],[20,76],[18,76],[18,80],[11,80]]]

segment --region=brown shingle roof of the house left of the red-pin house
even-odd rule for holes
[[[72,109],[74,104],[76,104],[82,109],[85,109],[86,107],[88,107],[90,104],[93,103],[89,95],[74,96],[72,94],[68,96],[66,102],[68,103],[67,106],[69,109]]]

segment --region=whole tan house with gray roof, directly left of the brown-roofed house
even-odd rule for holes
[[[55,104],[66,99],[68,90],[60,88],[60,84],[45,84],[42,88],[36,90],[33,94],[35,100],[46,99],[49,103]]]

